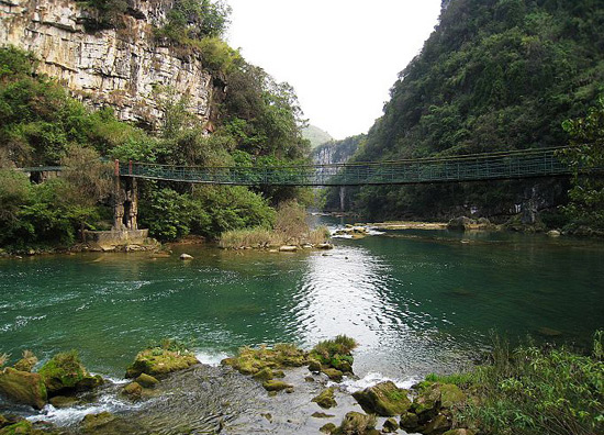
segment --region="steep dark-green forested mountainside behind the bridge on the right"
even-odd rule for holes
[[[450,1],[422,53],[400,74],[356,159],[567,144],[562,122],[583,114],[604,91],[602,29],[599,1]],[[354,209],[382,217],[494,202],[507,209],[530,186],[370,187],[356,196]]]

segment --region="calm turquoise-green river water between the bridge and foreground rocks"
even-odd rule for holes
[[[356,337],[356,372],[399,379],[474,357],[496,330],[585,346],[604,327],[604,243],[507,233],[387,232],[328,253],[179,246],[170,258],[0,261],[0,352],[77,348],[122,376],[154,339],[219,360],[243,345]],[[194,256],[180,261],[179,253]],[[557,334],[551,337],[551,334]]]

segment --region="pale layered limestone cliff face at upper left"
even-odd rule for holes
[[[163,119],[157,86],[188,96],[189,111],[210,119],[212,76],[200,55],[157,46],[171,0],[133,0],[120,30],[87,32],[91,12],[72,0],[0,0],[0,45],[40,58],[38,72],[60,80],[92,107],[110,104],[123,121],[156,129]]]

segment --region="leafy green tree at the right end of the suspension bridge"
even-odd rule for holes
[[[573,186],[566,212],[577,222],[604,228],[604,182],[583,171],[604,168],[604,98],[588,115],[563,124],[571,147],[563,158],[572,165]]]

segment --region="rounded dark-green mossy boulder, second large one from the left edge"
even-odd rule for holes
[[[75,350],[55,355],[37,372],[46,384],[48,395],[56,395],[64,390],[75,390],[78,382],[88,376]]]

